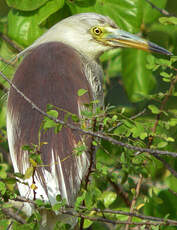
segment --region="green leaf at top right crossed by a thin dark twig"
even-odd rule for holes
[[[159,7],[159,8],[162,8],[164,9],[165,6],[166,6],[166,2],[167,0],[151,0],[151,2]],[[146,2],[146,1],[143,1],[143,21],[145,24],[150,24],[152,22],[155,21],[155,19],[157,19],[161,13],[157,10],[157,9],[154,9],[152,8],[152,6]]]

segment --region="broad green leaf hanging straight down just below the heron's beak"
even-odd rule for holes
[[[147,53],[124,49],[122,52],[122,77],[124,87],[132,102],[144,99],[155,86],[152,72],[146,69]]]

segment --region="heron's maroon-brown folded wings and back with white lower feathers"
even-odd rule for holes
[[[92,99],[80,55],[60,42],[45,43],[32,50],[16,71],[13,83],[44,111],[47,104],[52,104],[78,115],[78,104],[88,103]],[[81,88],[88,90],[88,93],[78,98],[77,91]],[[59,112],[60,119],[64,119],[64,115],[64,112]],[[15,171],[24,173],[29,167],[28,153],[22,150],[22,146],[38,144],[42,120],[43,116],[11,88],[7,131]],[[42,133],[41,142],[47,144],[41,147],[40,154],[43,164],[47,166],[37,168],[35,173],[37,198],[43,197],[53,203],[60,193],[69,204],[74,202],[89,165],[88,153],[80,157],[73,154],[73,148],[81,141],[81,136],[78,131],[66,127],[58,134],[53,129]],[[88,148],[89,142],[87,137]],[[30,185],[32,181],[28,180],[28,183]],[[19,185],[21,193],[27,192],[24,186]]]

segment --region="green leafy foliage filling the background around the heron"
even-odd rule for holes
[[[177,14],[177,1],[151,0],[151,2],[159,8]],[[19,50],[28,47],[58,21],[81,12],[108,15],[120,28],[137,33],[174,54],[177,53],[175,19],[173,23],[168,21],[160,23],[159,18],[163,15],[152,8],[146,0],[0,0],[0,70],[12,78],[16,66],[13,63],[7,66],[7,62]],[[7,37],[16,45],[16,48],[7,42]],[[161,59],[158,59],[159,57]],[[117,49],[107,52],[100,57],[100,61],[105,73],[105,104],[114,106],[108,111],[99,112],[105,115],[104,119],[98,118],[104,132],[134,145],[176,152],[177,93],[175,93],[175,86],[173,86],[173,93],[161,109],[170,82],[174,80],[176,74],[174,71],[176,63],[173,65],[168,58],[152,56],[134,49]],[[10,183],[8,180],[13,172],[8,154],[5,123],[7,96],[5,92],[8,88],[7,82],[0,78],[1,208],[4,207],[4,201],[18,194],[17,191],[14,192],[15,181]],[[145,108],[146,111],[142,116],[135,120],[131,119],[133,115]],[[158,126],[153,132],[152,129],[157,120]],[[115,129],[111,130],[111,127]],[[149,136],[154,137],[153,143],[150,143]],[[162,161],[147,153],[136,156],[131,150],[115,146],[108,141],[98,141],[96,145],[99,146],[96,154],[96,173],[93,174],[92,183],[87,190],[81,193],[77,205],[85,199],[88,208],[101,207],[130,211],[131,201],[136,196],[136,185],[139,178],[143,177],[133,210],[145,215],[177,220],[175,193],[177,178],[167,170]],[[171,168],[177,169],[175,158],[164,156],[162,159]],[[119,189],[124,195],[121,195]],[[125,200],[125,194],[128,197],[127,200]],[[127,216],[120,215],[114,217],[108,215],[107,218],[128,219]],[[0,219],[0,226],[6,229],[11,220],[3,212]],[[25,225],[22,226],[16,221],[13,225],[14,229],[17,227],[25,229]],[[26,229],[37,229],[33,218],[28,220],[27,225]],[[92,226],[92,229],[124,229],[124,225],[109,226],[96,221],[85,221],[84,228],[89,226]],[[143,225],[142,229],[145,229]],[[176,227],[153,226],[152,229],[176,229]]]

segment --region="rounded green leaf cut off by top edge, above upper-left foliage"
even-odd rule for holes
[[[6,0],[9,7],[24,11],[36,10],[47,1],[48,0]]]

